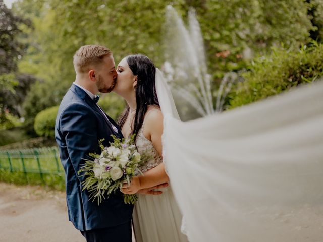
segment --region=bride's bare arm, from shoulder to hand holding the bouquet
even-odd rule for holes
[[[163,114],[160,110],[149,113],[145,120],[144,136],[151,140],[153,147],[161,156],[163,147],[161,145],[161,135],[163,134]],[[151,188],[169,181],[165,172],[164,163],[143,173],[144,175],[133,177],[131,184],[124,185],[122,192],[126,194],[137,193],[138,190]]]

